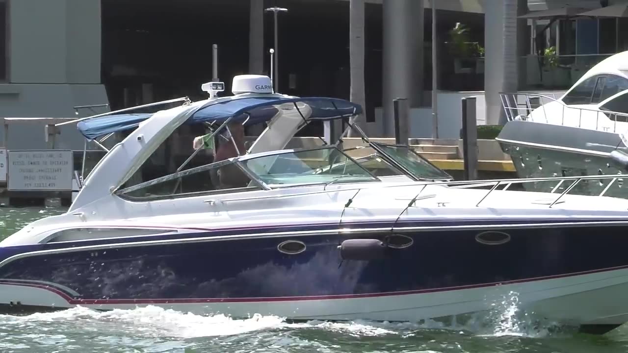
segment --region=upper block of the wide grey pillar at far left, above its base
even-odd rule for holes
[[[100,83],[100,1],[12,1],[11,82]]]

